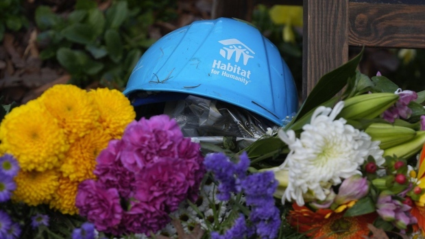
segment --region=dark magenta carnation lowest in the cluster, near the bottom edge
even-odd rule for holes
[[[123,215],[123,227],[126,230],[139,234],[144,233],[149,236],[164,228],[171,218],[167,212],[156,210],[149,203],[131,203],[130,211]]]

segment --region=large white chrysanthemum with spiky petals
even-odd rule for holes
[[[372,155],[377,165],[385,162],[379,142],[352,125],[345,124],[343,118],[335,120],[343,108],[343,101],[332,110],[320,106],[311,116],[311,123],[302,127],[300,138],[295,132],[280,130],[280,139],[288,144],[289,155],[280,169],[289,170],[289,184],[285,190],[285,199],[295,199],[298,205],[304,205],[304,194],[313,194],[315,199],[324,200],[323,187],[329,184],[341,184],[341,179],[361,174],[359,166]]]

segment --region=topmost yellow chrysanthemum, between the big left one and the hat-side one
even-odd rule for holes
[[[46,90],[40,97],[47,110],[58,119],[73,142],[88,134],[99,118],[93,98],[73,85],[56,85]]]

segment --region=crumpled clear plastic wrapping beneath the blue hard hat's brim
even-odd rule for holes
[[[175,118],[186,137],[234,136],[258,139],[278,126],[243,108],[213,99],[189,95],[169,101],[164,114]]]

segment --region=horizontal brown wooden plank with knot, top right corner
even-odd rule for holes
[[[425,5],[350,2],[352,46],[425,48]]]

